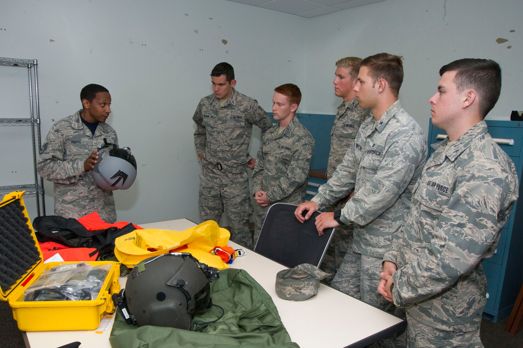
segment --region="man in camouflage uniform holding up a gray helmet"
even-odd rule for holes
[[[106,123],[111,113],[111,95],[107,88],[90,84],[82,88],[83,109],[53,124],[42,145],[37,164],[39,175],[54,182],[54,214],[79,218],[98,212],[108,222],[116,222],[112,191],[94,181],[98,146],[118,146],[115,130]]]

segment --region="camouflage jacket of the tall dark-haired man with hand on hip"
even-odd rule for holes
[[[272,125],[269,115],[256,100],[234,88],[220,109],[218,102],[214,94],[202,98],[192,116],[196,150],[204,154],[203,166],[212,168],[219,162],[226,172],[242,173],[252,158],[248,147],[253,124],[267,131]]]

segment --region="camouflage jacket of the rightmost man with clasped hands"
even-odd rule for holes
[[[484,121],[445,150],[432,145],[400,239],[384,260],[396,263],[394,304],[430,327],[480,328],[486,303],[482,260],[493,256],[518,197],[513,161]]]

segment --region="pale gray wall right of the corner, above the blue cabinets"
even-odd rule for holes
[[[302,108],[334,113],[341,102],[332,85],[335,62],[388,52],[404,57],[400,101],[425,132],[439,68],[461,58],[501,65],[501,96],[487,118],[508,120],[511,110],[523,109],[522,13],[521,0],[386,0],[310,18]],[[498,38],[508,42],[498,44]]]

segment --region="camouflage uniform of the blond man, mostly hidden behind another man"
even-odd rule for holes
[[[328,156],[327,179],[332,177],[336,167],[342,163],[343,157],[354,142],[360,124],[369,117],[372,117],[372,112],[370,109],[361,108],[356,97],[347,104],[342,103],[342,105],[338,107],[331,131],[331,152],[329,152]],[[344,205],[345,202],[343,202],[342,199],[335,204],[327,204],[325,206],[325,211],[335,212],[338,209],[343,208]],[[329,245],[321,264],[322,270],[332,274],[325,279],[327,284],[331,283],[334,274],[336,274],[339,265],[345,257],[346,252],[351,254],[347,257],[352,257],[353,260],[356,260],[353,251],[349,250],[349,247],[353,242],[353,229],[354,226],[352,223],[336,228],[336,233],[331,240],[331,244]],[[353,262],[352,264],[355,263]],[[355,272],[353,272],[353,274],[355,274]],[[359,279],[359,277],[357,278]],[[357,284],[356,281],[348,282],[348,284],[355,286],[354,288],[351,288],[348,293],[351,296],[359,298],[359,282]]]

